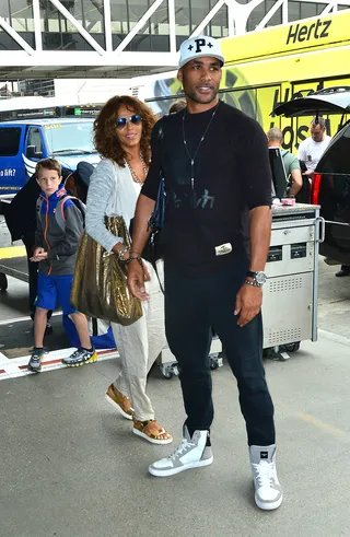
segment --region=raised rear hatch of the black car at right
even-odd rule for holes
[[[272,115],[285,117],[347,113],[350,114],[350,86],[327,87],[306,97],[293,98],[272,110]]]

